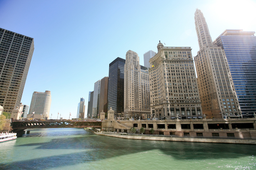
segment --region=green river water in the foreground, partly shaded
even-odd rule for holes
[[[79,128],[31,129],[0,143],[0,169],[256,169],[256,145],[132,140]]]

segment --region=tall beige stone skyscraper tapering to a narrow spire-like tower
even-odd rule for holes
[[[242,117],[225,52],[213,45],[199,9],[195,11],[195,29],[200,47],[195,56],[195,66],[202,112],[207,118]]]

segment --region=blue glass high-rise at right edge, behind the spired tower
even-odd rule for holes
[[[254,31],[225,30],[213,44],[224,49],[243,118],[256,111],[256,36]]]

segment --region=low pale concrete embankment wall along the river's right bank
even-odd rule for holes
[[[177,137],[177,136],[157,136],[157,135],[127,135],[127,134],[110,134],[102,132],[91,132],[104,136],[111,136],[124,139],[137,139],[137,140],[164,140],[164,141],[182,141],[182,142],[209,142],[209,143],[235,143],[235,144],[256,144],[254,139],[223,139],[223,138],[200,138],[200,137]]]

